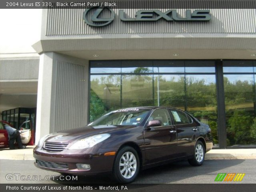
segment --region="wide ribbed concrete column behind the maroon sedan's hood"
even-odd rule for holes
[[[40,55],[36,144],[49,133],[88,121],[88,61],[54,52]]]

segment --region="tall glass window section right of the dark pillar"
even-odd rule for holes
[[[227,146],[256,144],[254,69],[252,61],[223,62]]]

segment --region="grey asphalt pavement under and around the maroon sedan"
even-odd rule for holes
[[[190,166],[187,161],[175,162],[143,170],[136,184],[214,184],[218,173],[245,173],[240,182],[256,184],[256,160],[205,160],[202,166]],[[0,183],[4,184],[114,184],[110,176],[72,176],[41,170],[32,160],[0,160]],[[34,180],[37,178],[37,180]]]

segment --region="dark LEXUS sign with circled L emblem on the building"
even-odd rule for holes
[[[86,9],[83,14],[86,24],[94,27],[102,27],[111,24],[114,21],[115,13],[110,8],[92,7]],[[138,10],[134,18],[126,17],[124,10],[119,10],[119,18],[122,22],[155,22],[160,19],[166,21],[210,21],[210,10],[186,10],[186,17],[180,17],[177,10]]]

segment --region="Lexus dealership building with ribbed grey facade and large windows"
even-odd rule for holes
[[[36,52],[0,54],[0,118],[29,114],[38,142],[173,106],[209,124],[216,148],[256,147],[256,9],[162,7],[43,9]]]

